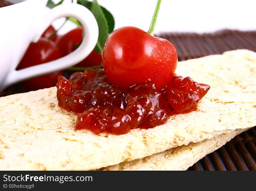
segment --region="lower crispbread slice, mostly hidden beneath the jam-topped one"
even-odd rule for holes
[[[186,170],[246,130],[248,129],[240,129],[229,134],[219,135],[197,143],[189,143],[145,158],[122,162],[98,170]]]

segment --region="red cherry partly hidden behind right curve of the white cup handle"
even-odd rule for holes
[[[65,35],[58,38],[56,44],[62,56],[73,52],[83,40],[83,28],[74,28]],[[102,65],[102,56],[92,51],[85,59],[79,62],[76,67],[89,67]]]

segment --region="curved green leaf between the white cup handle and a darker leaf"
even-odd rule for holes
[[[99,27],[99,37],[98,42],[96,44],[96,47],[94,50],[102,55],[103,47],[105,45],[105,42],[108,38],[108,24],[106,17],[102,11],[102,8],[99,6],[97,0],[94,0],[91,5],[90,11],[93,13]]]

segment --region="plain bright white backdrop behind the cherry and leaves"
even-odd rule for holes
[[[69,3],[71,0],[64,2]],[[98,2],[113,14],[115,29],[121,26],[136,26],[147,31],[157,0]],[[54,25],[58,26],[62,21],[56,21]],[[70,26],[72,24],[65,26],[62,33]],[[162,0],[155,33],[203,33],[225,28],[256,30],[256,0]]]

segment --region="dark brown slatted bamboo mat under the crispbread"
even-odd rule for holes
[[[0,0],[0,7],[10,3]],[[162,33],[158,35],[173,43],[178,60],[221,54],[228,50],[249,49],[256,51],[256,31],[223,30],[216,33]],[[15,84],[1,96],[26,92]],[[220,149],[205,156],[188,170],[256,170],[256,127],[236,136]]]

